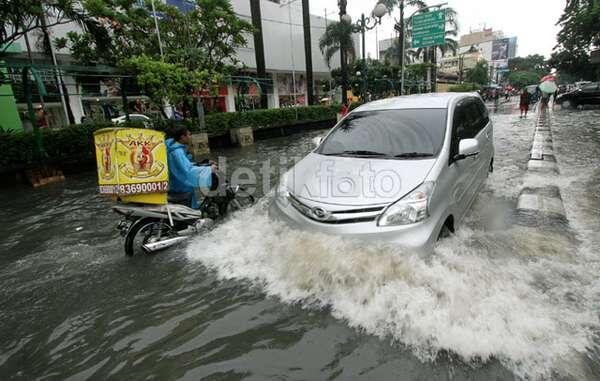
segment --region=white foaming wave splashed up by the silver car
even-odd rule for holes
[[[462,229],[418,255],[290,230],[269,219],[268,203],[197,239],[188,256],[284,303],[328,308],[423,361],[450,351],[472,364],[498,359],[521,377],[585,377],[573,364],[593,346],[599,267],[578,263],[568,241]]]

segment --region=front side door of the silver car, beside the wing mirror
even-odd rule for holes
[[[475,136],[469,115],[470,105],[472,105],[471,98],[463,98],[457,103],[452,116],[449,169],[454,174],[452,198],[459,218],[462,218],[469,206],[478,163],[475,157],[456,159],[460,140]]]

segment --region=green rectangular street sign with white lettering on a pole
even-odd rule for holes
[[[446,10],[426,12],[412,18],[412,47],[442,45],[446,39]]]

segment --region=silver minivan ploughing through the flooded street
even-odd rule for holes
[[[428,248],[453,232],[493,169],[477,94],[411,95],[358,107],[281,179],[290,225]]]

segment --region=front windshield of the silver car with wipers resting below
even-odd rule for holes
[[[352,113],[327,136],[317,153],[330,156],[416,159],[437,156],[446,109]]]

